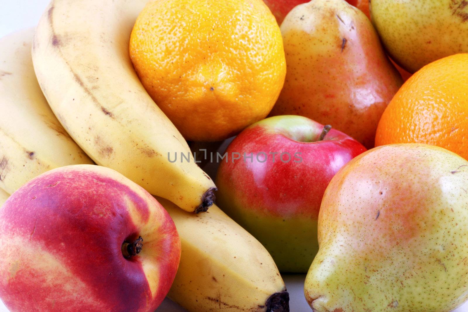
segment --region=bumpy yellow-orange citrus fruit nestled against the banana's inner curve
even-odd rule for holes
[[[153,0],[130,56],[187,140],[228,138],[268,115],[285,80],[281,32],[262,0]]]

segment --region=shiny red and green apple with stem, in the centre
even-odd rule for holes
[[[282,272],[307,272],[318,250],[323,193],[344,164],[366,151],[328,130],[302,116],[270,117],[242,131],[219,165],[219,208],[266,247]]]

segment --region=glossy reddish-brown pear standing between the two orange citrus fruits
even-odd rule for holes
[[[313,0],[287,15],[281,33],[287,73],[271,115],[331,124],[372,148],[402,78],[369,19],[344,0]]]

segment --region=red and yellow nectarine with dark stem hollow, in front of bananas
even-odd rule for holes
[[[41,174],[0,210],[0,297],[12,312],[153,312],[181,247],[161,204],[116,171]]]

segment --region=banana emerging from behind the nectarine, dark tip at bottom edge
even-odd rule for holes
[[[289,311],[289,294],[266,249],[216,205],[194,215],[156,198],[176,224],[182,255],[168,297],[190,312]]]

